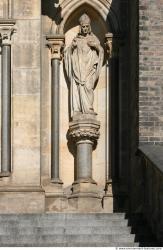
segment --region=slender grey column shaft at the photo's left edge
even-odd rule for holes
[[[11,46],[2,45],[2,174],[11,172]]]

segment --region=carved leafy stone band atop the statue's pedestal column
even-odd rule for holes
[[[94,143],[100,136],[99,128],[100,123],[98,121],[94,123],[90,123],[89,121],[88,123],[87,121],[72,122],[68,130],[68,139],[75,142],[89,140]]]

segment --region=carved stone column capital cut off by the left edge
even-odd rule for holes
[[[15,32],[15,23],[13,19],[0,20],[0,39],[1,45],[11,45],[11,37]]]

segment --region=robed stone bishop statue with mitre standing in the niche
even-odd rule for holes
[[[95,114],[93,90],[103,64],[103,48],[91,31],[91,20],[83,14],[80,31],[64,52],[65,70],[70,83],[71,117]]]

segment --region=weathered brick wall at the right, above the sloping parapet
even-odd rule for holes
[[[140,144],[163,144],[163,2],[139,1]]]

